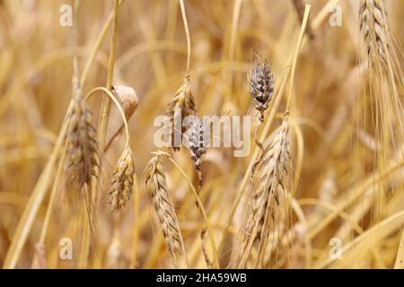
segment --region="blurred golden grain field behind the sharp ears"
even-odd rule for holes
[[[367,117],[372,117],[364,116],[370,107],[363,100],[372,88],[372,71],[367,66],[366,48],[359,33],[359,1],[305,2],[312,4],[310,25],[314,39],[303,40],[290,107],[295,126],[291,132],[294,204],[291,220],[282,226],[278,236],[279,242],[268,251],[272,256],[267,267],[403,266],[402,114],[391,121],[391,129],[397,135],[394,148],[385,147],[378,141],[377,133],[373,135],[364,127],[370,121]],[[391,36],[396,41],[398,63],[402,65],[404,3],[383,3]],[[77,215],[79,207],[67,198],[73,191],[58,184],[43,244],[37,243],[52,185],[47,188],[38,214],[32,216],[21,250],[13,252],[18,253],[18,260],[10,265],[10,247],[17,240],[13,239],[15,230],[57,142],[72,96],[72,28],[59,24],[63,4],[72,3],[0,0],[0,264],[19,268],[171,268],[171,257],[145,189],[144,170],[153,156],[151,152],[158,149],[154,145],[154,117],[165,113],[186,74],[187,39],[178,0],[124,0],[119,6],[112,83],[133,87],[138,98],[136,112],[128,121],[137,184],[119,223],[110,213],[108,191],[110,174],[125,145],[124,133],[113,142],[101,163],[100,194],[94,203],[98,232],[92,242],[91,258],[81,260],[83,214]],[[329,24],[333,4],[341,8],[342,26]],[[288,75],[302,24],[294,1],[186,0],[185,7],[191,43],[190,86],[199,115],[214,115],[218,111],[250,115],[256,126],[247,74],[258,57],[268,59],[276,93],[282,85],[286,86],[283,93],[277,94],[282,97],[279,106],[274,108],[275,104],[271,104],[268,109],[268,113],[274,112],[274,118],[268,134],[261,134],[268,146],[282,121],[289,93],[289,83],[282,79]],[[81,1],[76,18],[81,73],[113,10],[111,0]],[[83,83],[84,94],[105,86],[110,36],[109,27]],[[397,87],[402,99],[400,81]],[[96,124],[101,96],[92,97],[89,104]],[[118,110],[113,107],[107,139],[120,125]],[[216,247],[220,248],[219,262],[223,268],[233,264],[232,254],[238,248],[236,238],[249,201],[250,184],[243,185],[243,181],[249,179],[256,150],[253,135],[250,136],[247,157],[233,157],[232,148],[211,148],[202,161],[204,185],[200,196]],[[172,157],[197,185],[189,151],[181,149],[173,152]],[[380,157],[383,161],[378,160]],[[53,176],[56,170],[57,165]],[[169,161],[164,161],[164,170],[189,267],[206,268],[199,239],[204,221],[189,184]],[[226,232],[241,191],[242,202]],[[72,239],[72,260],[59,257],[63,238]],[[338,239],[337,243],[331,239]],[[204,241],[208,257],[213,259],[207,236]],[[333,248],[339,243],[344,251],[336,258],[332,256]]]

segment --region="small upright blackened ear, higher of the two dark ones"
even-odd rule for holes
[[[252,104],[259,111],[259,120],[263,122],[265,110],[268,109],[274,92],[274,78],[265,59],[259,58],[259,61],[252,67],[249,82]]]

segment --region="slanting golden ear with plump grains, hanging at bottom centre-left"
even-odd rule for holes
[[[175,213],[171,197],[168,193],[167,182],[162,169],[162,152],[155,152],[156,156],[150,160],[145,168],[146,189],[152,197],[155,213],[162,228],[165,246],[174,258],[174,264],[185,257],[180,224]]]

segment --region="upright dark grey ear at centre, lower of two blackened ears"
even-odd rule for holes
[[[202,186],[202,173],[200,170],[202,158],[206,154],[206,147],[209,144],[210,133],[209,126],[202,118],[195,117],[189,125],[187,135],[189,152],[192,161],[194,161],[195,170],[198,173],[198,190]]]

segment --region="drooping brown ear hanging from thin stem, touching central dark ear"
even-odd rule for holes
[[[189,75],[185,77],[185,82],[174,94],[168,106],[166,116],[165,131],[166,135],[171,137],[171,146],[174,151],[180,150],[182,134],[185,128],[182,126],[182,119],[191,115],[196,115],[195,100],[190,91]],[[178,139],[177,141],[175,139]]]

